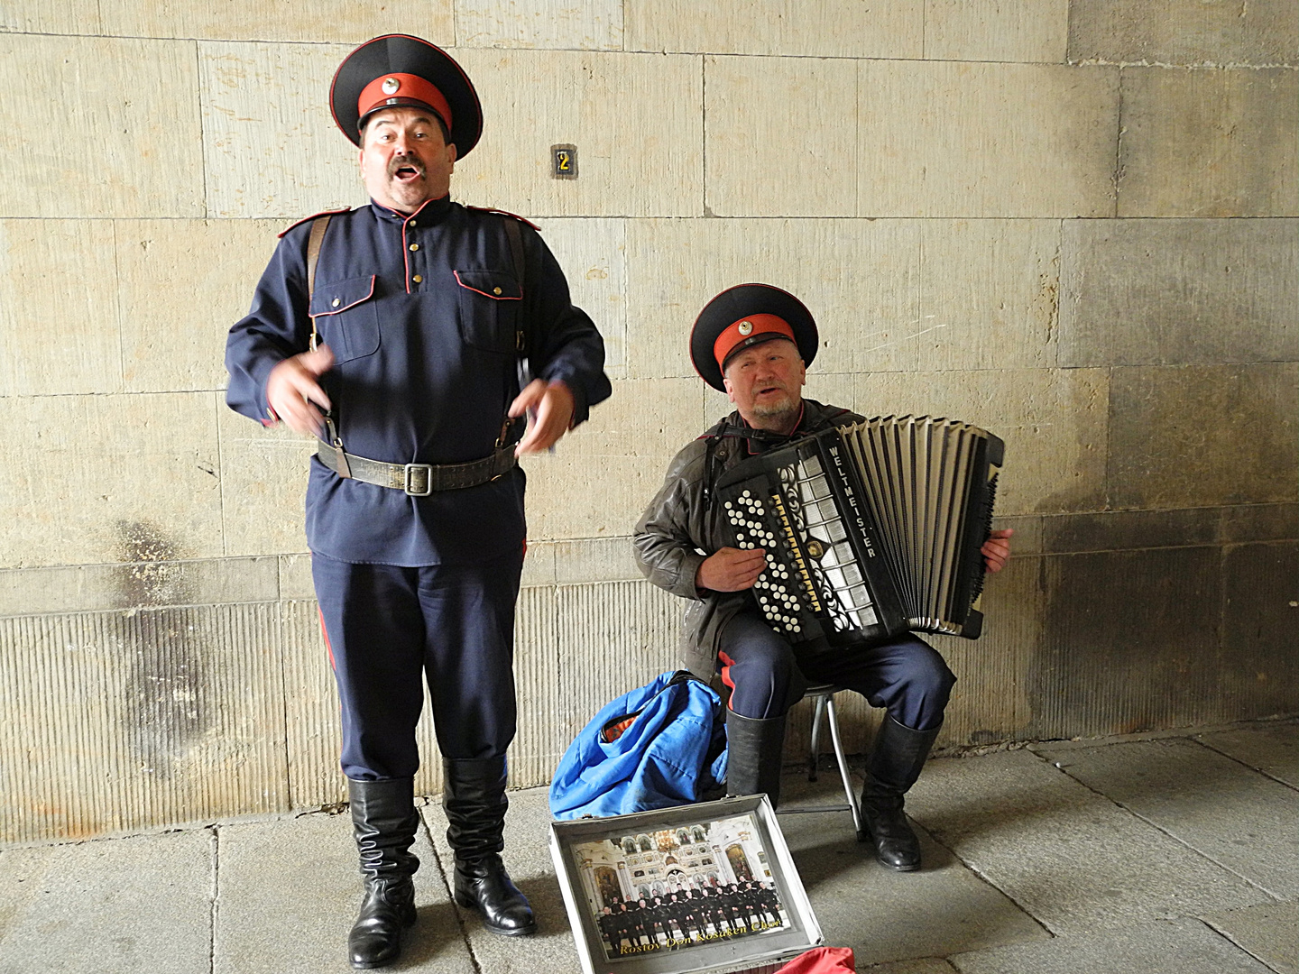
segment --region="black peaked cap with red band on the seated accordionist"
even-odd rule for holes
[[[756,321],[747,321],[751,316],[757,316]],[[772,317],[787,325],[788,331],[776,330]],[[717,342],[733,326],[735,329],[730,336],[734,343],[727,342],[729,347],[720,349],[722,361],[776,338],[792,339],[805,365],[816,358],[820,338],[812,312],[803,301],[770,284],[737,284],[705,304],[695,319],[695,327],[690,330],[690,360],[695,364],[699,378],[716,390],[726,390],[722,383],[722,362],[717,361]]]

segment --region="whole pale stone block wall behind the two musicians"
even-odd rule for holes
[[[514,784],[677,662],[627,535],[726,412],[686,335],[743,281],[816,314],[811,396],[1007,442],[943,745],[1299,710],[1290,0],[10,0],[0,842],[343,797],[309,445],[230,413],[221,357],[275,234],[364,204],[326,92],[392,31],[474,78],[453,195],[542,225],[614,381],[527,462]]]

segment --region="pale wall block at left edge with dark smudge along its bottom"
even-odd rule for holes
[[[212,393],[0,397],[5,568],[221,553]],[[181,512],[181,513],[177,513]]]

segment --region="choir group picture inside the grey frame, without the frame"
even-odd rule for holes
[[[575,843],[605,960],[790,927],[751,814]]]

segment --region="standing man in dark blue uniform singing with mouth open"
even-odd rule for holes
[[[536,929],[499,855],[525,545],[516,457],[551,447],[611,388],[600,335],[535,229],[451,201],[455,162],[482,131],[460,66],[418,38],[375,38],[338,69],[330,106],[370,203],[282,234],[230,331],[226,399],[321,438],[307,542],[365,880],[349,955],[377,968],[416,918],[421,674],[455,899],[494,932]]]

